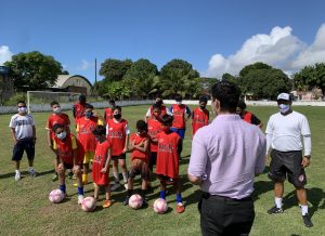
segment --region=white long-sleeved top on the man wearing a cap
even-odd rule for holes
[[[271,136],[271,147],[280,152],[301,150],[302,136],[310,135],[310,128],[306,116],[292,112],[286,116],[281,113],[270,117],[265,130],[268,136]],[[310,155],[311,145],[304,144],[304,155]],[[268,145],[268,149],[270,144]]]

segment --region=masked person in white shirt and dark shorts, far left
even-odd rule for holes
[[[12,137],[14,141],[14,148],[12,160],[15,162],[15,181],[21,180],[21,160],[24,150],[27,154],[29,174],[36,176],[34,171],[35,143],[36,143],[36,128],[31,115],[27,114],[26,103],[20,101],[17,103],[18,114],[11,117],[9,127],[11,128]]]

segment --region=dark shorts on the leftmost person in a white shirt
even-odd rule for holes
[[[18,140],[13,148],[12,160],[22,160],[24,150],[27,154],[28,160],[34,160],[35,157],[35,144],[31,139]]]

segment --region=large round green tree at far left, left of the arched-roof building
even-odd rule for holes
[[[18,53],[4,63],[13,71],[16,90],[41,90],[55,84],[62,65],[53,56],[38,51]]]

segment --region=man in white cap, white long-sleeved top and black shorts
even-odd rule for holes
[[[288,181],[296,187],[297,197],[301,207],[303,223],[307,227],[312,227],[310,215],[308,214],[308,201],[304,185],[307,184],[304,168],[310,163],[311,157],[311,132],[306,116],[292,112],[291,97],[288,93],[281,93],[277,96],[280,113],[270,117],[266,133],[266,154],[270,147],[271,163],[269,178],[274,181],[275,207],[268,213],[282,213],[282,196],[284,193],[284,181],[288,175]],[[302,157],[303,136],[304,156]]]

